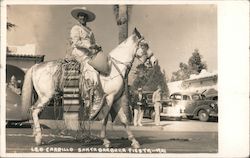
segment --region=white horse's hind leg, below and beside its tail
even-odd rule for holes
[[[36,145],[42,144],[42,131],[39,123],[38,114],[44,108],[44,105],[49,101],[49,99],[44,99],[43,101],[38,99],[32,109],[32,117],[33,117],[33,135],[35,137]]]

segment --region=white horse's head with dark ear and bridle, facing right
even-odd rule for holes
[[[157,64],[157,59],[154,56],[154,53],[149,48],[148,42],[141,36],[141,34],[138,32],[138,30],[135,28],[133,32],[137,38],[137,49],[135,52],[135,56],[141,61],[142,63],[145,63],[146,61],[150,61],[152,66],[155,66]]]

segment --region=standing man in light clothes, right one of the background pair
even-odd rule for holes
[[[161,109],[161,86],[157,86],[157,90],[153,93],[152,102],[155,109],[155,125],[160,125],[160,109]]]

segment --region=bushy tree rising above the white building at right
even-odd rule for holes
[[[202,69],[207,69],[207,64],[202,61],[199,50],[195,49],[188,60],[188,64],[181,62],[179,69],[172,73],[171,81],[188,79],[191,74],[199,74]]]

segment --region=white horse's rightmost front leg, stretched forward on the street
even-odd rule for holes
[[[140,148],[139,142],[135,139],[132,131],[129,128],[128,119],[127,119],[127,116],[125,115],[122,107],[120,108],[120,110],[118,112],[118,117],[119,117],[121,123],[123,124],[124,128],[126,129],[126,132],[128,134],[128,139],[132,142],[131,143],[132,148],[136,148],[136,149]]]

